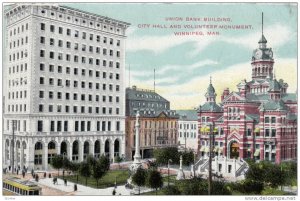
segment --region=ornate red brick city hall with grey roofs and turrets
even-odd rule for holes
[[[211,136],[216,155],[275,163],[297,158],[297,94],[287,93],[288,84],[276,79],[273,52],[263,34],[258,44],[251,81],[242,80],[238,91],[225,89],[220,105],[211,82],[207,88],[206,102],[198,109],[203,157],[208,156]]]

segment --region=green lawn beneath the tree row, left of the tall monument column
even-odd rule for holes
[[[62,176],[60,176],[62,178]],[[77,182],[77,176],[65,176],[68,181]],[[115,185],[115,180],[117,181],[117,185],[123,185],[127,183],[128,170],[109,170],[104,177],[99,179],[98,188],[107,188]],[[78,183],[81,185],[85,185],[85,177],[78,176]],[[97,182],[93,177],[87,179],[87,186],[92,188],[97,188]]]

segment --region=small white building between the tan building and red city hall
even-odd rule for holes
[[[178,144],[181,150],[198,149],[198,117],[196,110],[176,110],[178,119]]]

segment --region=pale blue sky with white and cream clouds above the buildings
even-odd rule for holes
[[[126,68],[128,69],[129,64],[131,66],[130,84],[153,88],[153,68],[156,68],[156,89],[171,101],[175,109],[195,107],[203,102],[210,75],[216,85],[220,81],[217,74],[222,75],[224,72],[223,76],[234,76],[235,79],[229,79],[229,82],[234,82],[228,83],[229,87],[238,84],[237,82],[243,78],[248,80],[251,78],[251,56],[261,36],[262,12],[264,12],[264,35],[268,40],[268,46],[273,48],[275,62],[278,64],[275,65],[277,77],[281,78],[280,73],[283,68],[285,71],[289,70],[287,66],[291,68],[291,72],[296,71],[298,54],[296,4],[76,3],[66,5],[131,23],[126,50]],[[253,28],[220,30],[220,36],[194,36],[195,38],[188,39],[173,37],[172,29],[138,28],[138,24],[170,25],[170,22],[165,21],[166,17],[229,17],[232,22],[224,24],[252,25]],[[180,22],[179,24],[216,23]],[[182,29],[182,31],[188,30]],[[239,64],[240,68],[236,67]],[[230,72],[233,66],[235,71],[238,69],[240,72]],[[126,76],[128,77],[128,74]],[[297,78],[282,76],[294,92]],[[221,79],[223,78],[221,76]],[[188,84],[193,80],[198,80],[195,83],[199,86],[188,90],[187,88],[190,88]],[[126,84],[128,85],[128,81]],[[227,86],[225,81],[224,84]],[[222,84],[223,88],[225,86]],[[175,88],[177,90],[171,90]],[[217,91],[221,90],[223,89],[217,89]],[[190,98],[183,99],[182,96]],[[177,103],[172,104],[172,101]]]

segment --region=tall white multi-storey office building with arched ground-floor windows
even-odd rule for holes
[[[47,170],[55,154],[124,156],[129,24],[54,4],[4,15],[3,165]]]

